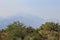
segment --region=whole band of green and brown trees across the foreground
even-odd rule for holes
[[[46,22],[35,29],[13,22],[0,30],[0,40],[60,40],[60,24]]]

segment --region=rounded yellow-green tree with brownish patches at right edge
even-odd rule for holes
[[[59,40],[60,25],[58,23],[46,22],[40,27],[39,33],[48,40]],[[58,35],[57,35],[58,34]]]

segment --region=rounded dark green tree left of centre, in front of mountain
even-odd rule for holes
[[[6,31],[6,40],[18,40],[19,38],[23,40],[26,35],[26,28],[20,22],[14,22],[8,25]]]

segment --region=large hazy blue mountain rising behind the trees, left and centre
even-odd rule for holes
[[[27,26],[33,26],[34,28],[40,26],[42,23],[44,23],[44,19],[37,17],[37,16],[32,16],[32,15],[25,15],[25,16],[12,16],[9,18],[0,18],[0,29],[6,28],[7,25],[14,21],[21,21]]]

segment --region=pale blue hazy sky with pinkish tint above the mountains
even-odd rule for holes
[[[35,15],[60,20],[60,0],[0,0],[0,17]]]

